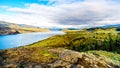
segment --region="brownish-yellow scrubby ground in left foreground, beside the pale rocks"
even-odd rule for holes
[[[51,63],[58,59],[58,53],[53,48],[14,48],[0,51],[0,66],[22,67],[30,63]],[[59,50],[59,49],[58,49]],[[23,68],[23,67],[22,67]]]

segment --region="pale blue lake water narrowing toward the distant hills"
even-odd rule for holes
[[[65,33],[62,31],[51,31],[0,36],[0,50],[32,44],[51,36],[61,34]]]

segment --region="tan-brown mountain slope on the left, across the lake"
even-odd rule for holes
[[[0,21],[0,35],[49,31],[46,28]]]

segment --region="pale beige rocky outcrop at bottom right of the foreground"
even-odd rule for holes
[[[79,53],[71,50],[63,51],[59,60],[51,68],[114,68],[106,58],[99,55]]]

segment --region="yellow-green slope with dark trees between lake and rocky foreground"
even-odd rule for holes
[[[105,50],[120,53],[120,34],[115,29],[67,31],[65,35],[50,37],[30,47],[64,47],[76,51]]]

